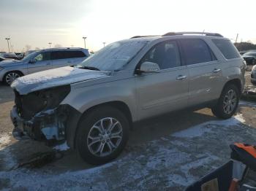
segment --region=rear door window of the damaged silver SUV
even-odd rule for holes
[[[181,39],[187,65],[215,61],[216,58],[208,45],[201,39]]]

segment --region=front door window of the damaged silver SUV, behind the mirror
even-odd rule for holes
[[[155,45],[146,53],[140,63],[146,61],[157,63],[160,69],[181,66],[178,44],[175,41],[169,41]]]

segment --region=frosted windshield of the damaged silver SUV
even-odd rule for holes
[[[94,67],[102,71],[117,71],[125,64],[129,63],[132,58],[148,43],[146,40],[128,39],[109,44],[98,52],[91,55],[78,68]]]

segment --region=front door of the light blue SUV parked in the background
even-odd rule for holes
[[[28,63],[28,73],[51,69],[50,52],[40,52],[34,57],[35,62]]]

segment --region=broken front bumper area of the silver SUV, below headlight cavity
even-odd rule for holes
[[[37,141],[64,140],[68,110],[68,106],[61,105],[56,109],[38,112],[31,120],[24,120],[14,106],[10,113],[15,126],[12,135],[18,140],[29,138]]]

